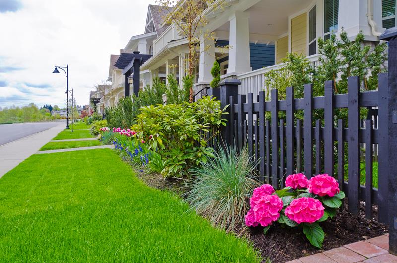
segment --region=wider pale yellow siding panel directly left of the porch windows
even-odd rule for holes
[[[306,56],[306,13],[291,19],[291,52]]]

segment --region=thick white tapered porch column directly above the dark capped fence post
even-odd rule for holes
[[[249,14],[236,11],[229,17],[229,67],[228,74],[251,71]]]

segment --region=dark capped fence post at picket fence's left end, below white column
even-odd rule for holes
[[[229,104],[236,104],[237,103],[237,95],[239,93],[239,85],[241,84],[240,80],[238,79],[224,79],[219,83],[219,88],[220,88],[220,106],[223,109],[226,105]],[[233,101],[229,101],[230,98],[233,98]],[[229,105],[229,109],[227,109],[227,112],[230,112],[230,107],[233,107],[233,105]],[[221,131],[222,135],[222,140],[225,143],[233,144],[233,134],[230,132],[231,129],[229,129],[230,125],[233,125],[231,123],[231,120],[233,118],[231,117],[230,114],[224,115],[224,118],[228,120],[226,127],[223,127]]]

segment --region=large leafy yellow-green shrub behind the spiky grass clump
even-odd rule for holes
[[[226,125],[223,110],[220,101],[210,97],[194,103],[146,106],[132,129],[165,161],[163,176],[188,175],[189,167],[213,157],[207,142]]]

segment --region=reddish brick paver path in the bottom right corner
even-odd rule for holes
[[[397,263],[397,257],[388,250],[389,237],[385,234],[287,263]]]

